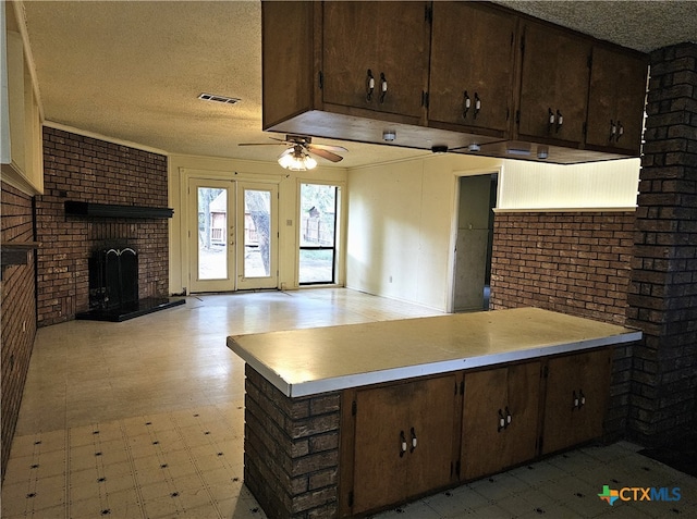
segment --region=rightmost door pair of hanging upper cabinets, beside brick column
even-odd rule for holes
[[[594,48],[587,144],[639,153],[647,70],[643,58]]]

